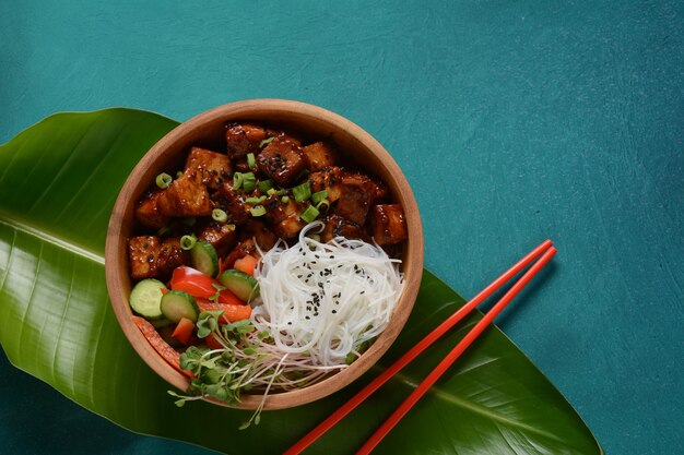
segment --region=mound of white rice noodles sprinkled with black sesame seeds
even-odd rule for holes
[[[350,352],[377,337],[403,290],[401,261],[376,244],[338,237],[321,243],[306,237],[291,248],[279,242],[256,272],[261,304],[251,322],[268,331],[282,354],[308,354],[320,366],[342,366]]]

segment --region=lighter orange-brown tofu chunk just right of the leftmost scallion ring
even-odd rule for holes
[[[158,196],[162,215],[176,217],[211,215],[209,192],[197,172],[184,173]]]

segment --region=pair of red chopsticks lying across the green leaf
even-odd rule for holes
[[[290,447],[284,455],[295,455],[302,453],[306,447],[312,444],[328,430],[330,430],[335,423],[338,423],[344,416],[351,412],[356,406],[363,403],[370,394],[377,391],[382,384],[385,384],[390,378],[397,374],[402,368],[409,364],[427,347],[435,343],[441,335],[447,333],[449,328],[455,326],[472,310],[474,310],[480,303],[492,296],[504,284],[509,282],[514,276],[520,273],[523,268],[530,265],[536,258],[540,258],[518,282],[502,297],[502,299],[475,324],[473,328],[463,337],[456,347],[439,362],[439,364],[423,380],[423,382],[409,395],[409,397],[394,410],[394,412],[382,423],[375,433],[366,441],[366,443],[358,450],[358,454],[369,454],[376,445],[382,441],[382,439],[391,431],[392,428],[401,420],[401,418],[417,403],[418,399],[432,387],[435,382],[451,367],[451,364],[459,358],[461,354],[480,336],[480,334],[492,323],[492,321],[506,308],[506,306],[520,292],[520,290],[541,271],[544,265],[551,261],[556,253],[556,249],[553,247],[551,240],[545,240],[528,255],[522,258],[506,273],[496,278],[490,286],[484,288],[477,294],[471,301],[461,307],[456,313],[449,316],[445,322],[439,324],[433,332],[431,332],[418,344],[409,349],[399,360],[397,360],[385,372],[373,380],[368,385],[362,388],[356,395],[354,395],[349,402],[342,405],[338,410],[332,412],[326,420],[320,422],[316,428],[309,431],[304,438],[302,438],[296,444]]]

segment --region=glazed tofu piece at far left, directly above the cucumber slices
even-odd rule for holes
[[[174,268],[188,263],[188,252],[180,248],[178,238],[131,237],[128,240],[128,261],[133,279],[165,280]]]

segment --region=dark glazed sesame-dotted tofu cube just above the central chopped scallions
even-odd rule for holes
[[[280,135],[267,145],[257,156],[259,170],[281,187],[290,187],[306,169],[306,158],[299,145]]]

